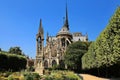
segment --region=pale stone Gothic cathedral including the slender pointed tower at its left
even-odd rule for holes
[[[76,41],[88,41],[88,35],[82,35],[80,32],[70,33],[68,22],[68,11],[66,7],[66,17],[62,28],[56,36],[49,36],[47,33],[46,45],[44,46],[44,29],[42,20],[36,35],[36,59],[35,71],[43,74],[43,70],[51,68],[54,65],[65,67],[64,54],[69,44]]]

